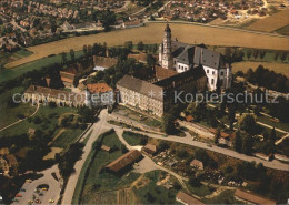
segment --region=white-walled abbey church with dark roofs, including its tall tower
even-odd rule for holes
[[[231,66],[223,62],[221,53],[210,51],[205,45],[190,45],[171,40],[169,24],[165,29],[163,42],[159,47],[159,63],[162,68],[178,73],[201,65],[208,78],[208,90],[217,89],[219,81],[222,89],[231,85]]]

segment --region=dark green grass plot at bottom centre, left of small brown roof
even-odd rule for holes
[[[156,185],[156,183],[160,181],[160,176],[166,174],[163,171],[152,171],[144,174],[144,176],[150,180],[149,184],[140,188],[133,188],[142,204],[180,204],[176,201],[177,189],[167,189],[163,186]],[[176,178],[173,180],[177,181]]]

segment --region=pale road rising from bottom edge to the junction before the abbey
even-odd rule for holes
[[[98,139],[98,136],[101,133],[109,131],[111,127],[110,124],[107,123],[107,117],[108,117],[108,111],[102,110],[99,114],[99,121],[97,123],[94,123],[86,134],[88,136],[90,131],[92,131],[90,139],[88,140],[88,142],[83,148],[83,154],[82,154],[81,160],[79,160],[74,165],[76,172],[68,180],[67,187],[66,187],[66,191],[63,194],[63,199],[62,199],[63,205],[71,205],[79,174],[81,172],[81,168],[82,168],[89,153],[92,150],[93,142]],[[81,141],[83,141],[84,139],[86,137],[82,137]]]

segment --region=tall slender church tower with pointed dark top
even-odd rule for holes
[[[173,59],[171,53],[171,30],[169,23],[167,23],[167,27],[165,29],[165,37],[163,37],[161,50],[162,50],[161,66],[165,69],[173,70]]]

